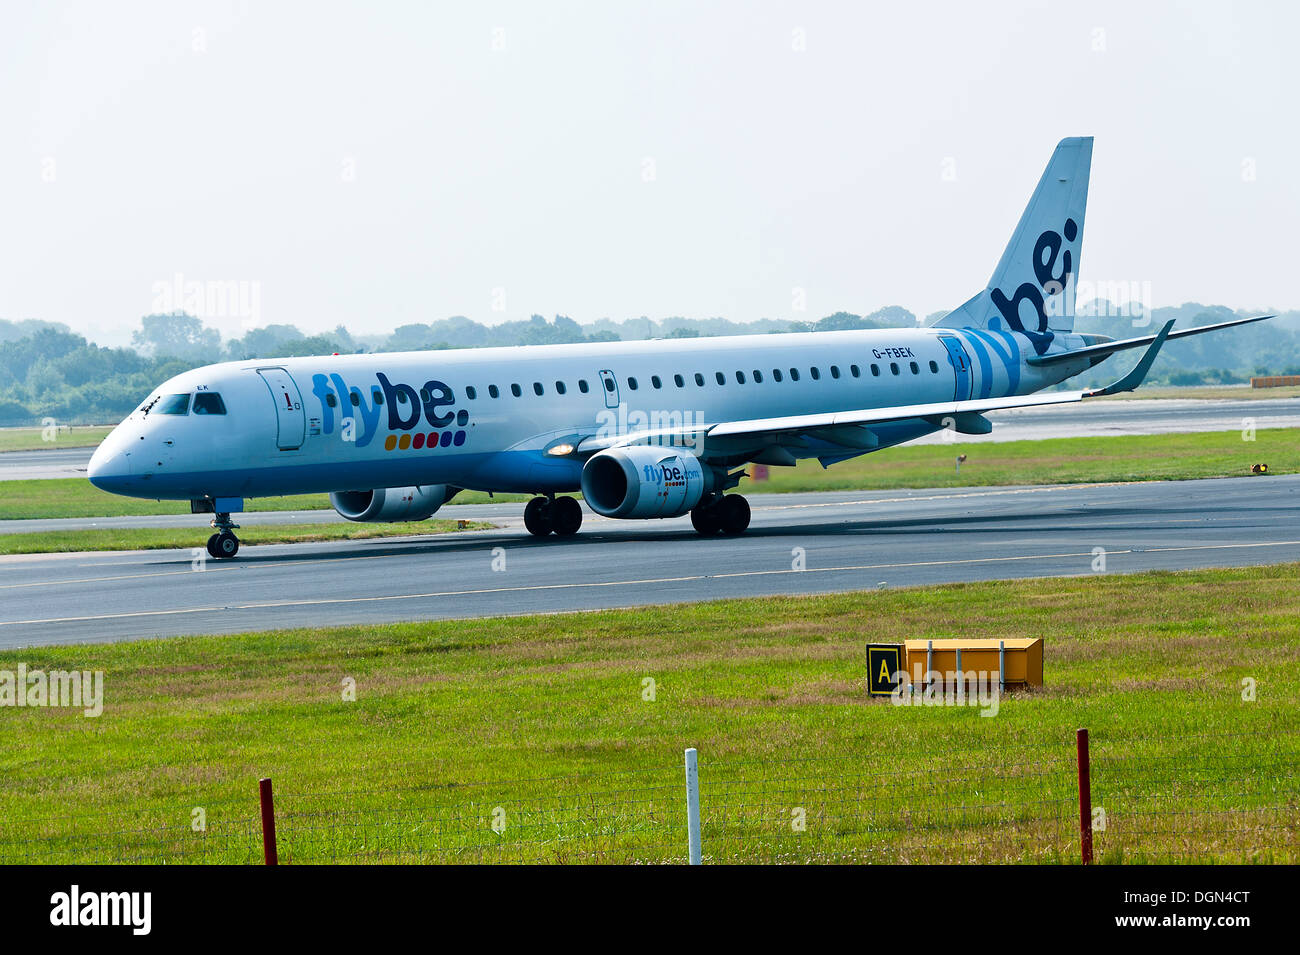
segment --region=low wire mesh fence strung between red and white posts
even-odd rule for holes
[[[992,755],[991,755],[992,754]],[[1087,769],[1087,767],[1086,767]],[[1300,860],[1300,730],[1124,738],[1091,751],[1097,861]],[[706,863],[1078,863],[1072,738],[963,751],[699,755]],[[292,863],[685,863],[680,760],[498,782],[295,789],[277,778],[274,851]],[[198,796],[196,802],[202,802]],[[247,796],[174,811],[0,821],[0,863],[264,859]]]

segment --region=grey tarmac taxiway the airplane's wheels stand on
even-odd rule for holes
[[[0,646],[376,625],[638,604],[1300,561],[1300,476],[1123,485],[754,495],[740,538],[688,518],[534,541],[498,530],[191,551],[0,559]],[[195,544],[207,530],[194,518]],[[1097,551],[1102,548],[1102,551]],[[800,565],[805,569],[798,569]]]

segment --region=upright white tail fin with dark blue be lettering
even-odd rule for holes
[[[988,287],[935,325],[1024,333],[1041,355],[1074,329],[1074,292],[1088,205],[1092,136],[1062,139]]]

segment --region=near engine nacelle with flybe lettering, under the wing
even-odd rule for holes
[[[582,496],[604,517],[679,517],[712,490],[712,469],[682,448],[610,448],[582,468]]]

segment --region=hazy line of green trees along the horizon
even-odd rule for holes
[[[1098,309],[1109,314],[1113,309]],[[1193,303],[1158,308],[1150,321],[1128,317],[1080,317],[1076,331],[1112,338],[1152,334],[1169,318],[1179,326],[1225,321],[1239,313]],[[1245,313],[1242,313],[1245,314]],[[927,316],[927,324],[939,314]],[[647,338],[696,338],[781,331],[915,327],[916,316],[889,305],[866,316],[836,312],[815,321],[760,318],[628,318],[580,325],[567,316],[547,321],[534,314],[524,321],[482,325],[463,316],[429,324],[410,324],[386,335],[354,334],[344,326],[307,334],[294,325],[266,325],[239,338],[222,340],[216,329],[186,313],[148,314],[140,320],[131,347],[108,348],[88,342],[66,325],[38,320],[0,320],[0,426],[40,424],[107,424],[126,417],[162,381],[198,365],[243,359],[285,359],[307,355],[484,348],[491,346],[618,342]],[[1169,385],[1231,383],[1252,374],[1300,374],[1300,312],[1271,322],[1221,334],[1183,339],[1167,347],[1152,370],[1152,381]],[[1074,387],[1115,377],[1109,368],[1092,369]]]

